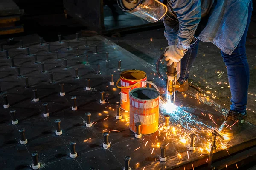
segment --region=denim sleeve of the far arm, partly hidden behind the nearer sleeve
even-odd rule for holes
[[[168,41],[168,45],[175,45],[178,43],[179,22],[169,18],[167,15],[163,18],[165,27],[164,36]]]

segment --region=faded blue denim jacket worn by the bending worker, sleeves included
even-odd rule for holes
[[[252,1],[167,0],[167,7],[163,22],[169,45],[177,44],[180,49],[188,49],[196,36],[230,55],[244,33]],[[195,31],[199,34],[195,35]]]

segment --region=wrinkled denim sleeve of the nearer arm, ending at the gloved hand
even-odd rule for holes
[[[200,0],[170,0],[171,7],[179,20],[179,49],[189,49],[195,30],[201,19]]]

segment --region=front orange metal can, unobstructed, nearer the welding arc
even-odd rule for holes
[[[141,123],[141,134],[158,130],[160,93],[153,88],[135,88],[130,91],[130,129],[136,133],[135,123]]]

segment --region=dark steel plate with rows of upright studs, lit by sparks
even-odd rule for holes
[[[176,93],[175,103],[167,104],[161,97],[159,130],[136,139],[129,130],[129,113],[121,111],[122,119],[116,119],[116,105],[120,104],[120,90],[109,85],[125,70],[145,71],[149,79],[159,87],[164,81],[155,73],[154,66],[101,36],[24,45],[26,48],[4,46],[0,51],[0,166],[3,169],[31,169],[30,154],[38,152],[40,169],[108,169],[122,170],[124,157],[131,156],[131,169],[192,169],[207,162],[212,131],[224,120],[226,110],[194,89]],[[95,54],[97,45],[97,54]],[[58,58],[56,59],[56,52]],[[78,51],[78,53],[77,53]],[[106,62],[106,54],[109,60]],[[35,55],[37,54],[37,63]],[[87,57],[88,55],[88,63]],[[67,59],[67,65],[65,63]],[[118,71],[118,60],[122,60]],[[45,72],[42,71],[44,62]],[[97,74],[100,65],[100,73]],[[78,68],[79,78],[75,78]],[[53,72],[53,81],[51,73]],[[28,84],[26,84],[28,77]],[[87,91],[87,79],[91,90]],[[60,96],[59,83],[64,83],[65,96]],[[27,87],[25,87],[27,86]],[[33,101],[33,89],[37,89],[38,102]],[[164,87],[165,89],[165,87]],[[105,91],[105,104],[100,104],[100,91]],[[8,94],[9,108],[3,108],[3,95]],[[77,110],[73,111],[71,96],[76,96]],[[48,103],[49,117],[44,117],[43,103]],[[18,124],[12,125],[10,111],[16,110]],[[92,127],[86,127],[85,113],[90,112]],[[163,129],[164,114],[170,115],[169,130]],[[55,134],[55,120],[61,120],[63,134]],[[27,144],[20,144],[20,129],[25,129]],[[104,149],[103,132],[109,132],[110,148]],[[189,135],[196,135],[196,150],[189,151]],[[246,123],[241,133],[225,141],[217,137],[217,150],[213,160],[255,145],[256,127]],[[76,142],[76,158],[70,158],[70,142]],[[166,162],[160,162],[160,145],[166,144]]]

